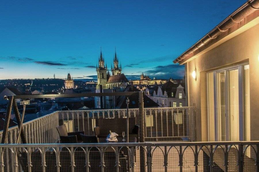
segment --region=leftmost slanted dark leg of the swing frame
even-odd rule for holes
[[[7,132],[8,132],[9,123],[10,123],[10,116],[11,116],[11,113],[12,113],[13,100],[14,100],[14,97],[13,96],[9,96],[9,101],[8,101],[7,110],[6,110],[5,125],[4,125],[4,128],[3,128],[1,144],[4,144],[5,140],[7,139]]]

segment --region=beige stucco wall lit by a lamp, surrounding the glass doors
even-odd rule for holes
[[[259,24],[187,62],[188,101],[196,105],[197,141],[207,141],[206,72],[247,60],[250,64],[251,140],[259,140]],[[197,69],[197,80],[191,73]]]

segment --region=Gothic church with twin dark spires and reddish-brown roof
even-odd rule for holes
[[[100,87],[102,87],[102,89],[113,89],[117,87],[126,87],[127,85],[129,85],[128,79],[123,73],[121,73],[121,71],[122,68],[121,64],[119,67],[119,60],[116,54],[116,50],[113,58],[113,66],[111,66],[111,73],[107,68],[107,63],[105,64],[101,50],[100,57],[98,59],[98,66],[96,65],[96,90],[100,90]]]

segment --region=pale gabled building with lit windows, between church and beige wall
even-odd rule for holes
[[[186,106],[184,83],[174,83],[172,80],[163,85],[146,88],[145,94],[160,107]]]

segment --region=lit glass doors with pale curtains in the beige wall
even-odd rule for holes
[[[249,64],[207,73],[209,141],[250,140]]]

